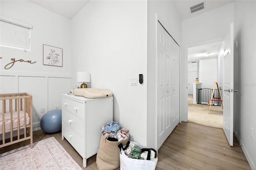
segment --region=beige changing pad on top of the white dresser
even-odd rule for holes
[[[112,91],[108,89],[79,88],[74,89],[73,93],[76,96],[84,96],[89,99],[99,99],[113,96]]]

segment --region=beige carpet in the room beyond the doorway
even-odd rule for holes
[[[214,128],[223,128],[223,109],[221,106],[193,104],[193,95],[188,95],[188,122]]]

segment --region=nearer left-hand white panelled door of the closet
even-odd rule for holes
[[[170,38],[167,32],[158,23],[157,36],[157,147],[160,148],[164,140],[171,133],[170,119],[170,65],[171,50]]]

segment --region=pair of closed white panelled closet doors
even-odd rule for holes
[[[157,149],[180,121],[180,47],[158,22]]]

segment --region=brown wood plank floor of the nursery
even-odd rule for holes
[[[67,140],[61,140],[61,132],[46,134],[42,130],[33,132],[37,142],[54,136],[72,158],[83,168],[82,157]],[[20,142],[1,148],[0,153],[28,145]],[[96,155],[87,160],[86,170],[97,170]],[[118,168],[119,169],[119,168]],[[177,126],[158,150],[156,170],[250,170],[242,149],[234,136],[234,146],[229,146],[224,131],[182,122]]]

